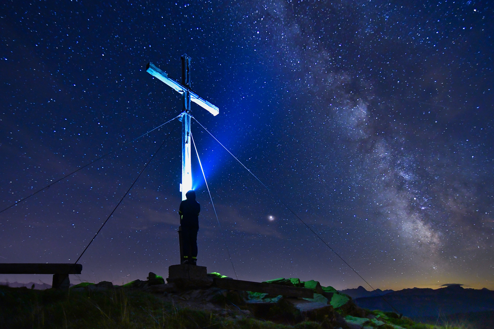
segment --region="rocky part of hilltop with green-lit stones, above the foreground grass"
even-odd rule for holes
[[[219,276],[219,274],[213,274]],[[220,276],[221,277],[221,276]],[[229,280],[229,278],[224,278]],[[161,277],[150,273],[148,281],[136,280],[122,287],[110,282],[81,284],[71,291],[104,291],[129,289],[149,292],[180,309],[200,310],[226,320],[253,318],[278,324],[296,325],[313,323],[330,329],[419,329],[434,328],[414,323],[393,312],[370,311],[357,306],[350,296],[337,292],[332,287],[322,287],[317,281],[300,282],[298,279],[276,279],[269,283],[310,288],[314,298],[296,298],[269,295],[258,292],[225,290],[214,286],[197,289],[177,288],[164,284]]]

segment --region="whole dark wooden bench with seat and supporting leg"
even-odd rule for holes
[[[69,274],[81,274],[81,264],[0,263],[0,274],[53,274],[51,288],[69,288]]]

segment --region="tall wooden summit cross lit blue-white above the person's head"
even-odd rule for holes
[[[168,86],[175,89],[182,95],[182,183],[180,184],[180,191],[182,192],[182,200],[185,200],[185,193],[192,189],[192,170],[190,164],[190,101],[196,103],[202,108],[208,110],[212,115],[217,115],[219,109],[199,97],[198,94],[191,90],[190,79],[190,57],[183,55],[182,57],[182,83],[170,78],[168,74],[158,69],[152,63],[148,63],[146,66],[146,72],[157,77],[165,82]]]

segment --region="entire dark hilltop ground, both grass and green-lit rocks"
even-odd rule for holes
[[[210,273],[201,280],[165,280],[149,273],[146,281],[123,286],[81,283],[43,291],[0,286],[0,329],[453,329],[426,325],[393,312],[368,310],[319,282],[296,278],[260,285],[265,290],[302,292],[313,298],[220,289],[241,282]],[[250,283],[252,284],[252,283]],[[297,287],[297,288],[293,288]],[[304,288],[304,289],[301,289]],[[310,292],[312,290],[312,292]],[[465,326],[461,329],[467,328]]]

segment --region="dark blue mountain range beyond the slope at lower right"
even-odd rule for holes
[[[389,292],[383,297],[356,298],[355,303],[371,310],[394,311],[384,299],[411,318],[494,311],[494,291],[486,288],[464,289],[460,285],[439,289],[404,289]]]

